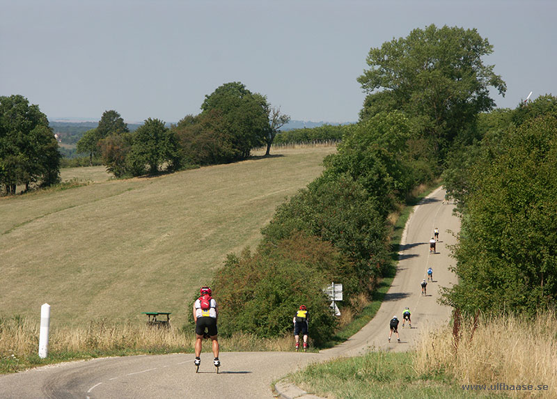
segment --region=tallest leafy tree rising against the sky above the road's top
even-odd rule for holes
[[[358,78],[368,93],[361,119],[404,111],[441,161],[455,136],[494,107],[489,88],[506,91],[494,65],[482,61],[492,52],[476,29],[433,24],[370,49],[370,68]]]

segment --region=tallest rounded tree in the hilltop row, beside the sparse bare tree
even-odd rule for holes
[[[226,122],[235,158],[249,157],[252,148],[262,146],[269,130],[267,99],[251,93],[244,84],[235,81],[219,86],[205,96],[203,113],[218,110]]]

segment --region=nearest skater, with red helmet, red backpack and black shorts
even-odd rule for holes
[[[217,301],[212,297],[212,290],[209,287],[202,287],[199,290],[201,297],[196,299],[194,303],[194,322],[196,323],[196,359],[194,363],[199,366],[201,363],[201,347],[203,338],[210,338],[212,341],[212,351],[214,354],[214,366],[219,367],[219,340],[217,339],[217,317],[219,309],[217,308]]]

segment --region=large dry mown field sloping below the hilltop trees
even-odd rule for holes
[[[143,322],[143,311],[170,311],[182,323],[185,302],[226,254],[255,247],[276,206],[317,177],[334,151],[274,150],[130,180],[98,177],[102,166],[68,169],[64,180],[97,183],[0,198],[0,316],[38,317],[47,302],[54,327]]]

